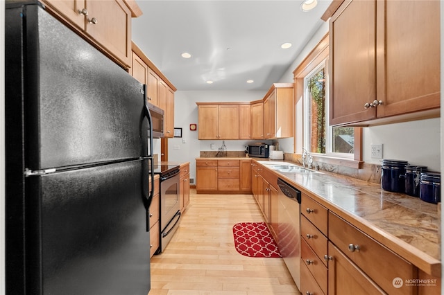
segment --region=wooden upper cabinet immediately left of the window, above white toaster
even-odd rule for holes
[[[265,138],[293,137],[293,83],[275,83],[264,98]]]

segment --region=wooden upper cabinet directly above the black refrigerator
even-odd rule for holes
[[[132,63],[131,17],[142,15],[135,1],[43,0],[71,28],[85,35],[115,62],[128,69]]]

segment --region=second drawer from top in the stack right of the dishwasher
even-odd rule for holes
[[[305,240],[305,242],[309,244],[314,253],[316,253],[316,255],[321,258],[323,264],[327,266],[324,256],[328,253],[328,240],[304,215],[300,216],[300,234],[302,235],[302,240]]]

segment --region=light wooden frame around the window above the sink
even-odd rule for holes
[[[329,75],[329,69],[331,66],[331,61],[329,58],[329,34],[327,33],[321,41],[314,47],[314,49],[305,57],[305,60],[296,67],[293,71],[293,79],[295,84],[295,107],[296,107],[296,120],[295,120],[295,136],[294,136],[294,150],[293,152],[296,154],[302,154],[302,147],[304,147],[305,141],[305,106],[304,106],[304,95],[305,95],[305,77],[310,75],[315,69],[319,67],[322,62],[325,62],[327,77]],[[328,78],[327,78],[328,82]],[[326,95],[328,97],[330,93],[330,85],[326,85]],[[327,109],[329,100],[327,99]],[[302,108],[298,111],[298,105]],[[302,105],[302,106],[301,106]],[[298,116],[302,116],[302,120],[297,118]],[[330,115],[329,115],[330,116]],[[328,123],[330,118],[327,119],[327,128],[329,131],[327,132],[327,136],[330,136],[330,124]],[[302,126],[298,126],[302,125]],[[298,132],[302,133],[301,136],[297,136]],[[300,143],[302,141],[302,145]],[[330,141],[330,140],[329,140]],[[329,143],[330,144],[330,143]],[[344,154],[345,155],[345,154]],[[341,163],[342,166],[348,166],[352,168],[360,168],[362,161],[362,128],[355,127],[355,152],[353,156],[350,157],[342,157],[341,153],[330,153],[329,149],[326,148],[325,154],[313,154],[316,161],[321,161],[325,163]]]

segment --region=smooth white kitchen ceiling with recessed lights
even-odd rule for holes
[[[323,24],[331,0],[311,12],[301,3],[137,0],[143,15],[133,19],[133,41],[178,90],[266,90]],[[280,48],[285,42],[293,46]]]

